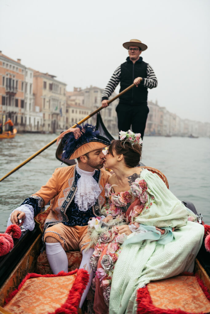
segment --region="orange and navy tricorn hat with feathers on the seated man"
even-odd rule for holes
[[[110,140],[99,131],[95,130],[92,124],[78,125],[61,133],[57,142],[62,139],[63,154],[62,159],[76,159],[92,150],[101,149],[111,144]]]

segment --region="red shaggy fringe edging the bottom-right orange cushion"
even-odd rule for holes
[[[186,272],[187,274],[187,272]],[[191,276],[191,273],[188,273],[188,275]],[[208,293],[207,287],[204,285],[202,280],[196,275],[196,279],[198,281],[198,284],[200,285],[201,289],[203,290],[203,293],[207,297],[207,299],[210,301],[210,294]],[[156,307],[152,304],[152,300],[150,297],[150,293],[147,289],[147,286],[140,288],[137,291],[137,314],[190,314],[189,312],[185,312],[179,309],[174,310],[164,310],[159,307]],[[199,312],[197,314],[203,314],[203,312]]]

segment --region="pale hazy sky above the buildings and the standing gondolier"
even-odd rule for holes
[[[148,100],[210,122],[209,16],[209,0],[0,0],[0,50],[71,91],[105,88],[137,38],[158,79]]]

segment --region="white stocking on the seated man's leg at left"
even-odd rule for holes
[[[48,262],[54,274],[59,273],[61,270],[68,272],[68,258],[66,252],[62,248],[60,242],[58,243],[47,243],[46,254]]]

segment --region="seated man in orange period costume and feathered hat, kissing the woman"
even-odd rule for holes
[[[75,250],[82,252],[80,268],[90,271],[89,258],[94,249],[84,252],[89,243],[87,226],[89,218],[100,215],[99,208],[105,203],[104,186],[111,175],[102,169],[105,161],[102,149],[110,145],[110,141],[90,124],[70,128],[60,134],[58,141],[60,139],[64,148],[63,158],[77,159],[77,165],[57,168],[45,186],[13,211],[9,223],[11,220],[11,223],[18,224],[18,219],[24,219],[23,227],[33,230],[34,216],[51,201],[43,239],[53,273],[68,272],[65,251]],[[80,307],[92,277],[90,274]]]

